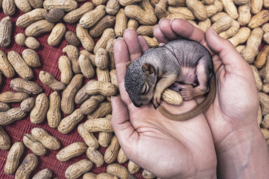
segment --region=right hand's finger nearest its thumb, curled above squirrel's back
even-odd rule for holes
[[[195,27],[194,25],[182,18],[173,19],[171,21],[171,27],[172,30],[179,36],[196,41],[204,45],[204,47],[207,48],[211,55],[214,54],[213,51],[207,45],[207,42],[205,40],[205,33],[203,30]]]

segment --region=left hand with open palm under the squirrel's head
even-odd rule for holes
[[[124,39],[124,40],[123,40]],[[114,44],[114,58],[121,99],[112,98],[111,126],[126,156],[154,175],[165,178],[216,178],[212,135],[203,114],[188,121],[172,121],[152,103],[135,107],[124,87],[126,64],[149,47],[134,30],[126,30]],[[183,113],[197,103],[180,106],[161,102],[169,111]]]

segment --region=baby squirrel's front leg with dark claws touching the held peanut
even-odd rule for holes
[[[178,75],[175,74],[168,74],[168,75],[164,74],[162,78],[158,81],[158,83],[155,85],[152,98],[152,103],[155,109],[161,103],[161,96],[163,91],[166,90],[166,88],[168,88],[169,86],[171,86],[171,84],[175,82],[177,78]]]

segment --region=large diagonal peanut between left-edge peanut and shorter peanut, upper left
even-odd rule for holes
[[[25,63],[19,53],[16,51],[9,51],[7,54],[7,59],[20,77],[25,80],[30,80],[33,78],[32,69]]]

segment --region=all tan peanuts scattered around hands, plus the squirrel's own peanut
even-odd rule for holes
[[[77,2],[83,3],[78,7]],[[30,112],[33,124],[47,119],[48,125],[62,134],[77,128],[83,138],[84,142],[72,143],[56,155],[62,162],[85,152],[88,156],[70,165],[65,171],[66,178],[82,175],[83,179],[135,178],[133,174],[140,170],[139,166],[132,161],[128,162],[128,169],[118,164],[128,158],[110,124],[111,96],[120,96],[113,44],[127,28],[132,28],[146,39],[149,47],[158,47],[153,28],[161,18],[183,18],[203,31],[211,26],[251,64],[260,98],[258,124],[269,146],[269,0],[0,0],[1,7],[7,16],[0,21],[0,47],[8,47],[13,38],[18,45],[27,47],[22,54],[16,51],[5,54],[0,50],[0,84],[2,75],[13,78],[17,73],[20,77],[10,81],[10,87],[17,92],[0,94],[0,149],[9,149],[4,167],[7,175],[16,172],[15,178],[27,179],[37,166],[37,155],[61,148],[59,140],[42,128],[33,128],[31,134],[24,134],[22,142],[10,147],[10,138],[1,126],[21,120]],[[12,34],[15,24],[9,16],[14,15],[16,7],[24,13],[16,26],[25,28],[25,34]],[[59,22],[61,19],[77,23],[76,32],[66,31],[65,24]],[[30,81],[34,76],[32,68],[42,65],[35,51],[40,46],[35,37],[43,33],[50,33],[47,40],[50,46],[57,46],[63,38],[69,44],[62,49],[66,55],[58,60],[60,81],[49,72],[39,72],[40,81],[54,90],[49,97],[42,93],[39,84]],[[99,36],[95,44],[93,38]],[[267,44],[259,52],[262,40]],[[78,50],[80,44],[84,50]],[[83,78],[93,78],[95,72],[98,80],[83,84]],[[162,98],[169,104],[182,102],[178,93],[168,89]],[[21,105],[10,108],[8,103]],[[75,104],[80,108],[75,109]],[[68,116],[62,118],[62,113]],[[81,123],[86,115],[88,120]],[[98,139],[93,132],[99,132]],[[32,153],[19,166],[25,146]],[[97,150],[99,146],[106,147],[104,155]],[[118,163],[114,163],[116,159]],[[107,173],[89,172],[93,164],[99,167],[104,162],[109,163]],[[43,169],[33,178],[51,178],[52,173]],[[146,179],[155,178],[146,170],[142,175]]]

